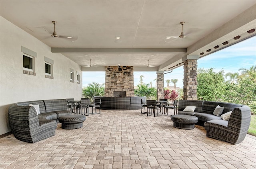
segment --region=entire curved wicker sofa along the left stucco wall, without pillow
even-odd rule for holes
[[[39,105],[40,114],[29,104]],[[35,143],[55,135],[58,118],[71,114],[66,99],[18,102],[9,106],[9,125],[15,138]]]

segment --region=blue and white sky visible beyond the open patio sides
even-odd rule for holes
[[[256,36],[246,39],[242,42],[226,47],[220,51],[202,57],[197,60],[198,69],[213,68],[214,72],[224,71],[224,75],[228,72],[241,74],[240,68],[249,69],[256,66]],[[164,87],[167,86],[166,80],[178,79],[177,87],[183,88],[183,66],[173,69],[172,73],[164,75]],[[166,72],[167,73],[167,72]],[[152,82],[152,86],[156,86],[156,71],[154,72],[136,72],[134,71],[134,86],[140,83],[140,76],[143,75],[143,83]],[[83,72],[83,86],[89,83],[105,83],[105,72]],[[173,86],[173,83],[170,83]]]

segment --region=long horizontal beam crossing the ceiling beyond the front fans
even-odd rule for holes
[[[52,53],[186,53],[187,48],[61,48],[52,47]]]

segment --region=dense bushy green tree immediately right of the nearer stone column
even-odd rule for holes
[[[198,100],[220,101],[223,98],[225,83],[224,71],[215,73],[211,69],[199,69],[197,75]]]

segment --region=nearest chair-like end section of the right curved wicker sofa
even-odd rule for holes
[[[234,108],[228,121],[210,120],[204,123],[206,136],[232,144],[241,143],[250,126],[251,111],[248,106]]]

